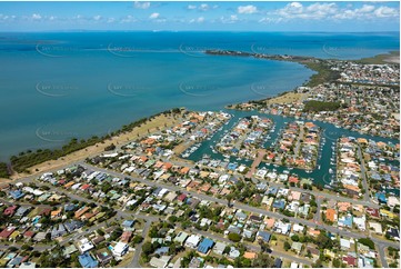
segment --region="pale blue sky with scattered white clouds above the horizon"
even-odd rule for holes
[[[0,31],[400,31],[398,1],[0,1]]]

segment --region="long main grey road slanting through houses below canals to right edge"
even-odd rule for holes
[[[200,198],[201,200],[208,200],[208,201],[217,202],[217,203],[220,203],[220,205],[225,205],[225,202],[227,202],[223,199],[218,199],[218,198],[212,197],[212,196],[207,196],[207,195],[198,193],[198,192],[193,192],[193,191],[187,191],[187,190],[183,190],[180,187],[166,185],[166,183],[162,183],[160,181],[152,181],[152,180],[141,179],[141,178],[134,178],[134,177],[131,177],[131,176],[121,175],[121,173],[118,173],[118,172],[114,172],[114,171],[111,171],[111,170],[93,167],[93,166],[90,166],[90,165],[82,165],[82,166],[90,167],[93,170],[97,169],[98,171],[107,172],[107,173],[109,173],[111,176],[126,177],[126,178],[129,178],[131,180],[140,181],[140,182],[149,185],[149,186],[162,187],[162,188],[166,188],[166,189],[168,189],[170,191],[187,192],[187,193],[190,193],[193,197]],[[287,216],[283,216],[281,213],[267,211],[267,210],[261,209],[261,208],[254,208],[254,207],[250,207],[250,206],[239,203],[239,202],[233,202],[233,206],[235,208],[238,208],[238,209],[260,213],[260,215],[263,215],[263,216],[268,216],[270,218],[288,219],[288,220],[290,220],[291,223],[300,223],[300,225],[304,225],[307,227],[315,227],[315,228],[320,228],[320,229],[325,229],[327,231],[339,233],[340,236],[352,237],[352,238],[357,238],[357,239],[367,237],[365,235],[361,235],[359,232],[354,232],[354,231],[351,232],[351,231],[342,230],[342,229],[339,229],[337,227],[332,227],[332,226],[328,226],[328,225],[315,225],[313,221],[310,221],[310,220],[295,219],[293,217],[287,217]],[[395,243],[395,242],[390,242],[390,241],[378,239],[378,238],[372,238],[372,240],[375,243],[383,243],[384,246],[392,246],[394,248],[399,248],[399,245]]]

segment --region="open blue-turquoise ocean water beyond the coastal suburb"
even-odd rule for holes
[[[224,104],[291,90],[313,72],[207,49],[359,59],[399,50],[399,33],[0,33],[0,160],[101,136],[174,107]]]

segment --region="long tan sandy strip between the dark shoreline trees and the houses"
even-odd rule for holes
[[[154,132],[159,129],[164,129],[164,123],[167,126],[166,128],[170,128],[170,127],[177,124],[178,122],[180,122],[180,119],[181,119],[181,117],[179,117],[179,116],[177,116],[177,119],[174,119],[173,117],[170,117],[170,116],[167,117],[164,114],[160,114],[160,116],[153,118],[152,120],[146,122],[141,127],[133,128],[133,130],[128,133],[122,133],[120,136],[112,137],[111,139],[106,140],[103,143],[97,143],[97,145],[87,147],[84,149],[72,152],[62,158],[59,158],[58,160],[42,162],[40,165],[37,165],[37,166],[28,169],[31,173],[16,173],[11,177],[11,179],[16,180],[16,179],[29,177],[32,175],[40,175],[47,170],[62,168],[70,163],[73,163],[73,162],[77,162],[80,160],[84,160],[88,157],[93,157],[93,156],[97,156],[97,155],[103,152],[104,148],[107,146],[110,146],[111,143],[114,143],[117,147],[122,146],[122,145],[127,143],[128,141],[143,137],[143,136],[148,134],[149,132]],[[8,182],[10,180],[0,179],[0,181]]]

